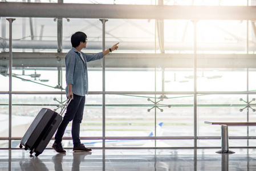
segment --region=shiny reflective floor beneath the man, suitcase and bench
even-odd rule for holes
[[[255,149],[93,149],[66,154],[46,149],[38,157],[23,149],[1,150],[0,170],[256,170]]]

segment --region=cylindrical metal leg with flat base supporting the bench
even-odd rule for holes
[[[221,125],[221,150],[216,153],[235,153],[229,150],[229,133],[227,132],[227,125]]]

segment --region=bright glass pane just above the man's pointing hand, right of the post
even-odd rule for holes
[[[155,20],[110,19],[105,34],[107,48],[120,42],[118,52],[155,53]]]

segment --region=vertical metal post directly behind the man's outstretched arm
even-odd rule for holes
[[[108,19],[100,19],[102,22],[102,50],[105,50],[105,22]],[[102,147],[105,148],[105,58],[102,60],[102,120],[103,120],[103,140],[102,140]]]

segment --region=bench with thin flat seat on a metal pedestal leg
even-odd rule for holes
[[[208,122],[205,121],[205,124],[210,125],[221,125],[221,150],[216,153],[235,153],[229,150],[229,133],[227,127],[231,126],[256,126],[256,123],[244,122],[244,123],[224,123],[224,122]]]

